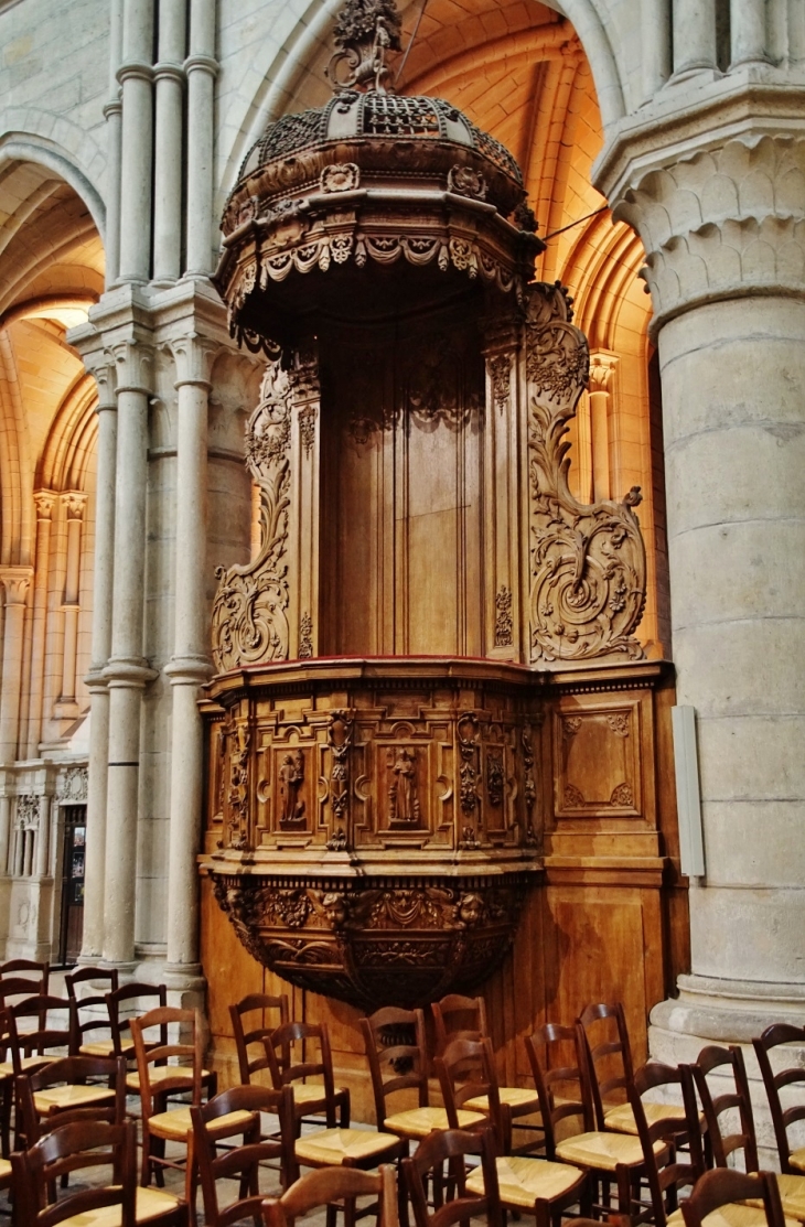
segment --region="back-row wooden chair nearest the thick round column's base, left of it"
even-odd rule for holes
[[[620,1001],[588,1005],[579,1017],[584,1032],[587,1066],[590,1074],[595,1128],[618,1134],[637,1134],[637,1123],[627,1091],[634,1077],[632,1045],[626,1015]],[[618,1093],[620,1092],[620,1093]],[[612,1099],[612,1093],[616,1099]],[[674,1104],[643,1101],[645,1119],[652,1124],[674,1115]]]

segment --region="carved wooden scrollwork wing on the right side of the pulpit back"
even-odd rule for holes
[[[568,422],[587,387],[589,350],[558,286],[529,287],[525,323],[531,497],[530,660],[639,659],[645,547],[632,508],[578,503],[567,483]]]

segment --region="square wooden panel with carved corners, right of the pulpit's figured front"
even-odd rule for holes
[[[557,818],[643,815],[639,701],[563,703],[553,713]]]

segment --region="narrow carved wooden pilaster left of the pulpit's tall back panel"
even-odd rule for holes
[[[320,387],[314,342],[296,352],[291,391],[290,655],[319,654]]]

